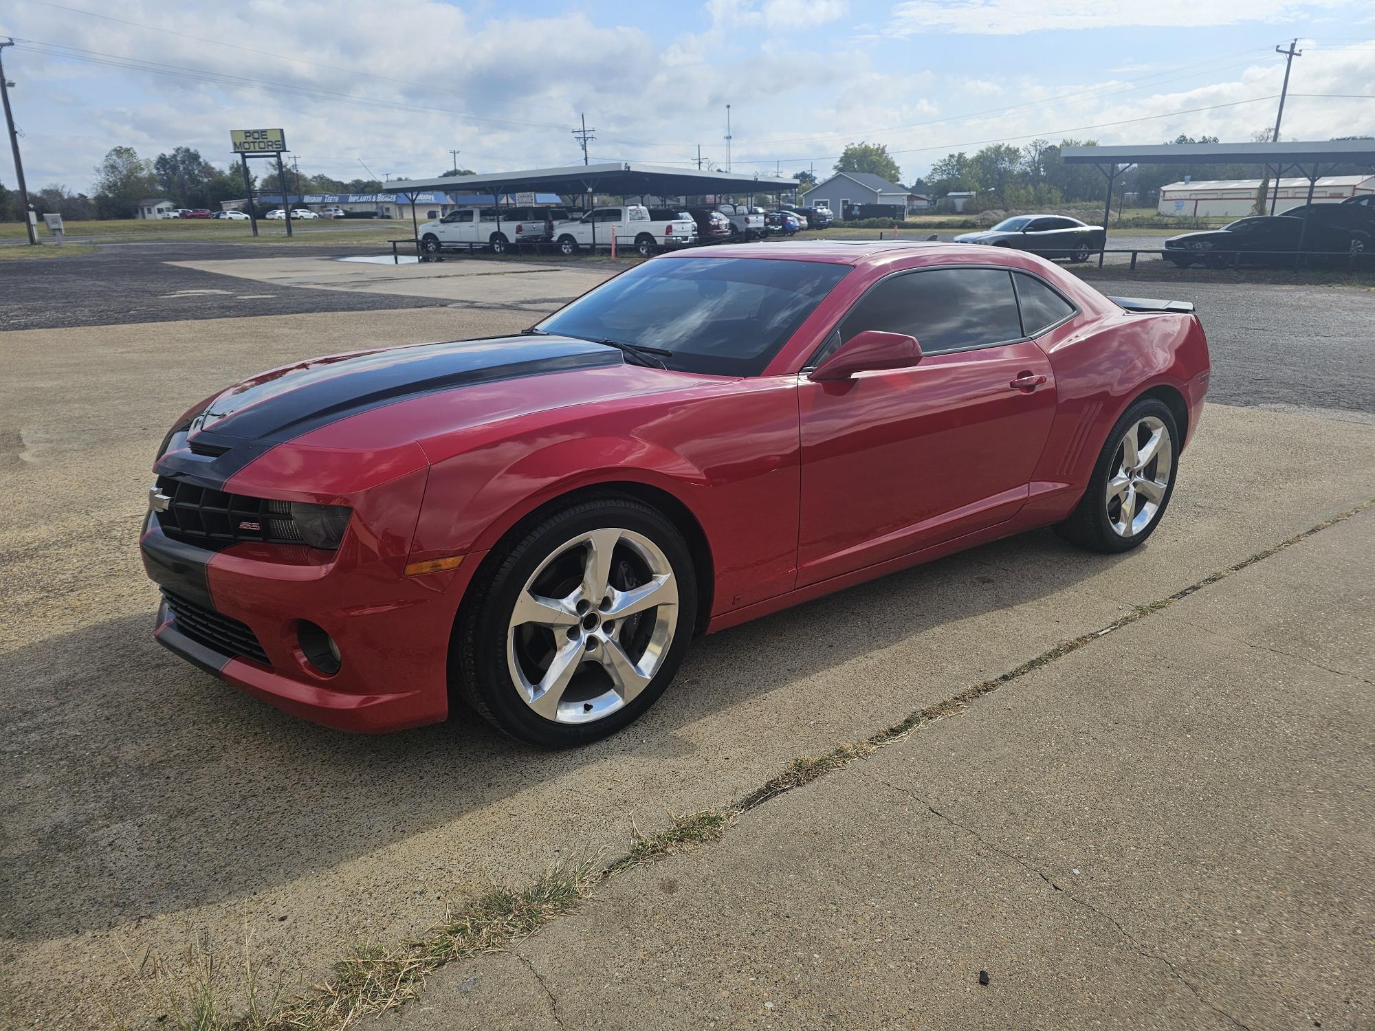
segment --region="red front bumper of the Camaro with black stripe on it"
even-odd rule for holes
[[[148,576],[194,613],[183,625],[164,597],[154,636],[199,668],[336,730],[382,733],[447,718],[448,642],[481,554],[454,570],[399,576],[359,561],[366,553],[348,537],[338,553],[257,543],[210,551],[173,540],[151,518],[139,547]],[[242,631],[216,632],[217,616],[248,628],[258,657]],[[302,620],[337,642],[337,674],[305,657]]]

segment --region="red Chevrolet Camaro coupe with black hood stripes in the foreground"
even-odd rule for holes
[[[342,730],[573,745],[723,630],[996,537],[1156,528],[1209,385],[1192,305],[1022,252],[646,261],[514,337],[312,359],[201,401],[142,535],[157,639]]]

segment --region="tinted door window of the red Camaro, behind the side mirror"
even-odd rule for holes
[[[1012,275],[1001,268],[938,268],[895,275],[865,294],[840,323],[840,337],[864,330],[906,333],[927,355],[1022,338]]]

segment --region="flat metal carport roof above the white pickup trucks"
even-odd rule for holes
[[[556,194],[602,192],[620,197],[653,194],[654,197],[700,194],[777,194],[798,186],[796,179],[756,179],[732,172],[700,172],[697,169],[645,165],[638,161],[615,161],[601,165],[566,165],[564,168],[535,168],[521,172],[488,172],[481,176],[447,176],[443,179],[393,180],[388,190],[444,190],[466,192],[534,192]]]

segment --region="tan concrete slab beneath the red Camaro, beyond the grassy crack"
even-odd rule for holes
[[[355,942],[419,933],[491,880],[623,852],[637,829],[738,799],[1375,494],[1371,426],[1213,406],[1148,547],[1104,558],[1031,533],[708,638],[645,720],[572,753],[466,713],[345,737],[153,643],[143,488],[188,401],[302,355],[528,323],[421,308],[0,334],[8,1023],[142,1015],[125,953],[175,957],[198,931],[249,933],[268,975],[308,983]]]

